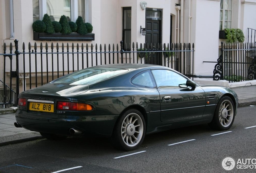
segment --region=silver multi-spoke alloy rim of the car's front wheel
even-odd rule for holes
[[[223,127],[228,127],[233,120],[234,108],[229,100],[224,100],[219,108],[219,122]]]

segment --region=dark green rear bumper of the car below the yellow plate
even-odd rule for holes
[[[110,137],[119,115],[58,115],[27,112],[18,110],[15,117],[23,128],[52,133],[56,135],[72,136],[69,129],[82,131],[81,135],[98,135]]]

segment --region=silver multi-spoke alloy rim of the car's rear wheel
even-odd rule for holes
[[[136,113],[128,114],[122,123],[122,139],[128,147],[136,146],[143,136],[143,121]]]

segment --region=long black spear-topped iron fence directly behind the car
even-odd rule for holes
[[[0,108],[17,105],[19,91],[39,87],[60,76],[76,70],[101,64],[147,63],[173,68],[193,78],[194,44],[104,44],[76,45],[68,43],[48,46],[40,43],[26,47],[23,43],[19,51],[15,40],[15,52],[12,44],[4,43],[3,81],[0,80]],[[119,48],[120,46],[120,48]],[[6,53],[9,48],[10,53]],[[14,58],[15,57],[15,58]],[[13,70],[15,69],[15,70]]]

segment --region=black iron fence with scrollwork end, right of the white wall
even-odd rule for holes
[[[256,47],[254,43],[223,44],[213,71],[213,80],[240,82],[256,79]]]

